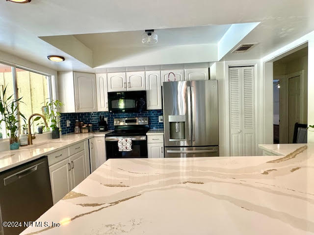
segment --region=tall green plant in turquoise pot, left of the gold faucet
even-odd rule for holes
[[[18,149],[20,147],[20,142],[18,138],[18,130],[19,130],[19,120],[17,116],[21,116],[24,120],[26,118],[19,111],[19,102],[22,102],[21,98],[14,99],[12,98],[13,94],[8,98],[5,98],[6,87],[2,92],[2,97],[0,95],[0,113],[2,121],[5,123],[5,128],[9,131],[7,134],[10,138],[10,149]],[[11,99],[12,98],[12,99]]]

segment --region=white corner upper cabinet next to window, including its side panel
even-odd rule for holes
[[[58,72],[62,113],[97,112],[96,76],[84,72]]]

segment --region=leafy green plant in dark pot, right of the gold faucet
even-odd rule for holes
[[[54,99],[50,102],[46,102],[43,107],[43,113],[47,120],[51,121],[51,129],[52,129],[52,139],[60,138],[59,127],[57,126],[58,121],[60,120],[60,113],[58,110],[63,106],[63,103],[57,99]]]

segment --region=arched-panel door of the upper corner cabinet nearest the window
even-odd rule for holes
[[[76,112],[97,112],[96,76],[74,72]]]

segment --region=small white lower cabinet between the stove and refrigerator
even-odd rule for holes
[[[148,158],[164,158],[163,135],[147,136]]]

